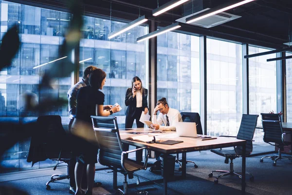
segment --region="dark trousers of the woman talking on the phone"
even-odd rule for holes
[[[132,128],[135,119],[136,119],[137,128],[144,127],[144,123],[139,121],[142,111],[144,111],[143,107],[136,108],[136,111],[133,117],[126,115],[125,128]],[[139,147],[137,146],[136,148],[139,148]],[[123,150],[129,150],[129,145],[123,144]],[[143,150],[136,151],[136,161],[141,162],[142,156],[143,156]]]

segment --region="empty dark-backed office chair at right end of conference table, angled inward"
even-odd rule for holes
[[[237,133],[237,139],[243,139],[246,140],[246,156],[249,156],[253,152],[253,137],[256,130],[256,122],[257,122],[258,115],[242,115],[241,123],[239,127],[239,131]],[[235,136],[220,136],[220,137],[235,137]],[[224,156],[225,157],[225,163],[228,164],[230,159],[230,170],[229,171],[221,171],[221,170],[215,170],[212,171],[209,174],[209,177],[213,177],[214,172],[222,173],[220,174],[214,181],[214,183],[218,183],[218,179],[222,176],[228,176],[228,175],[236,175],[239,178],[242,178],[238,172],[235,172],[233,170],[233,159],[242,156],[242,146],[234,147],[234,150],[222,150],[222,149],[216,149],[211,150],[211,152]],[[241,172],[239,172],[241,173]],[[246,172],[246,174],[250,175],[250,180],[254,181],[254,176],[251,173]]]

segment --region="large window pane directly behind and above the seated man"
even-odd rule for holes
[[[200,113],[199,42],[175,32],[157,37],[157,98],[180,112]]]

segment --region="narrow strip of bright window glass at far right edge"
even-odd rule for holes
[[[292,53],[286,52],[286,56]],[[286,59],[286,105],[287,122],[292,122],[292,59]]]

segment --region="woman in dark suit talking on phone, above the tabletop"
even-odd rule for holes
[[[125,104],[126,110],[126,128],[132,128],[134,120],[138,128],[144,127],[144,123],[140,122],[142,111],[148,113],[147,102],[148,90],[142,86],[142,81],[139,77],[132,79],[132,86],[127,89]]]

